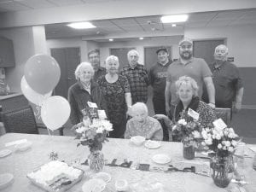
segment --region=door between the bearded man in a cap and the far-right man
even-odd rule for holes
[[[224,44],[224,39],[193,41],[193,55],[203,58],[207,64],[210,64],[214,61],[213,54],[219,44]]]

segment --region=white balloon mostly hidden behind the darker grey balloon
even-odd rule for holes
[[[32,90],[32,88],[27,84],[24,76],[22,77],[22,79],[20,81],[20,88],[21,88],[23,95],[26,96],[26,99],[29,102],[32,102],[36,105],[41,105],[44,102],[44,100],[49,98],[49,96],[51,96],[51,94],[52,94],[52,91],[42,95],[42,94],[39,94],[38,92],[36,92],[35,90]]]

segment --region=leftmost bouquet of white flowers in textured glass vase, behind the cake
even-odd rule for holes
[[[79,145],[90,148],[89,166],[93,172],[101,172],[104,166],[104,155],[102,154],[102,143],[108,142],[108,132],[113,131],[113,125],[107,119],[90,119],[84,116],[83,123],[75,130],[78,134],[76,139]]]

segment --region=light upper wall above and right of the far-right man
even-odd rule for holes
[[[227,38],[229,56],[235,57],[237,67],[256,67],[256,25],[186,28],[184,36],[192,39]],[[213,54],[213,53],[212,53]]]

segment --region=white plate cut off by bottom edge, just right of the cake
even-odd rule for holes
[[[106,183],[99,178],[92,178],[89,181],[86,181],[83,186],[83,192],[102,192],[106,187]]]

